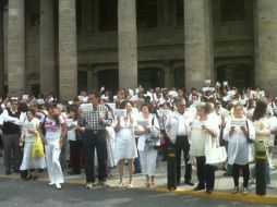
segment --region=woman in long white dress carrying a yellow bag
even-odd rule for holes
[[[22,124],[21,142],[24,142],[24,150],[20,170],[27,170],[27,176],[25,178],[25,180],[29,180],[32,178],[36,180],[38,178],[38,169],[46,168],[45,157],[32,157],[33,143],[37,137],[39,130],[39,120],[34,117],[35,113],[35,110],[28,109],[26,112],[27,119]],[[33,174],[31,172],[32,169],[34,169]]]

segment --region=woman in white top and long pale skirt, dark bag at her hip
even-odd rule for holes
[[[155,187],[155,169],[158,150],[154,146],[147,144],[152,136],[156,136],[159,133],[159,123],[156,117],[150,113],[152,106],[143,105],[141,124],[135,130],[135,135],[138,136],[137,149],[140,153],[140,160],[142,166],[142,172],[146,178],[145,186]],[[157,137],[154,137],[156,141]]]

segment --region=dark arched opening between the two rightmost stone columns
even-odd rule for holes
[[[228,81],[230,86],[246,88],[253,86],[254,70],[248,64],[224,64],[217,68],[217,81]]]

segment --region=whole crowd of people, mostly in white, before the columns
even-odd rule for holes
[[[137,88],[113,94],[82,90],[72,100],[59,102],[50,94],[35,98],[24,95],[1,100],[1,148],[5,173],[26,172],[25,180],[37,179],[47,169],[49,185],[57,190],[69,174],[80,174],[84,166],[86,187],[108,186],[111,169],[119,170],[119,187],[133,187],[133,174],[145,175],[145,187],[155,187],[158,155],[167,160],[167,146],[176,148],[177,184],[193,186],[192,169],[196,167],[194,191],[213,193],[215,170],[206,162],[206,151],[225,146],[228,154],[221,168],[233,178],[233,194],[249,194],[250,179],[255,178],[254,142],[266,147],[266,182],[272,187],[272,156],[277,135],[275,99],[261,88],[239,90],[219,83],[215,87]],[[34,155],[34,145],[44,144],[43,156]],[[23,155],[21,155],[23,148]],[[44,156],[45,153],[45,156]],[[182,174],[181,163],[185,163]],[[124,183],[124,167],[129,181]],[[96,183],[96,178],[98,182]],[[182,181],[183,178],[183,181]]]

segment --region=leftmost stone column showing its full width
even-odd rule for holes
[[[10,95],[23,95],[26,87],[24,2],[24,0],[9,0],[7,68]]]

